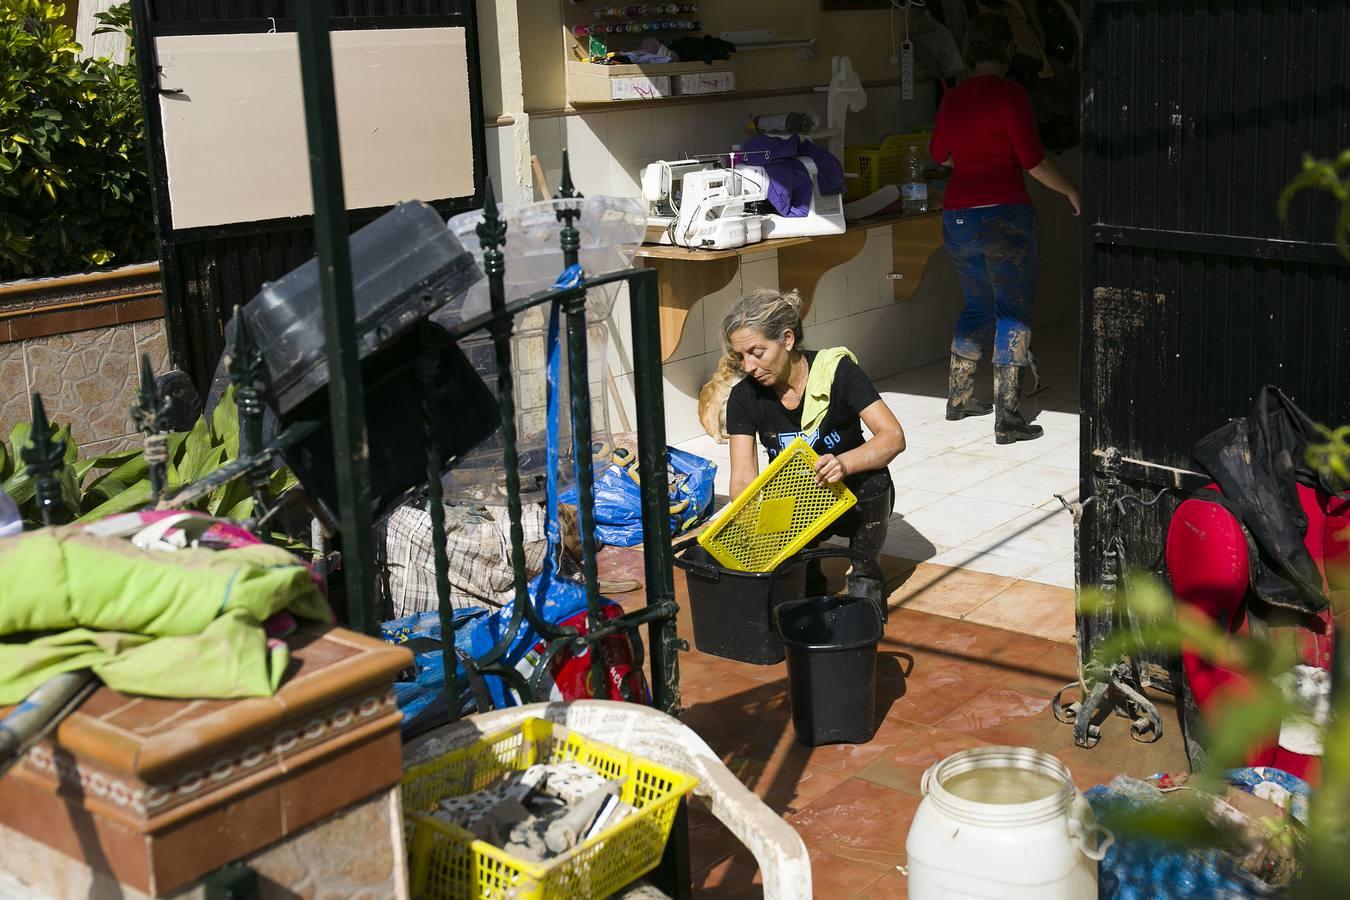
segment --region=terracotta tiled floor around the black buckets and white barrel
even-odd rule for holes
[[[1040,748],[1062,760],[1083,788],[1118,772],[1185,769],[1166,698],[1156,698],[1165,725],[1162,739],[1152,745],[1134,742],[1123,719],[1110,719],[1102,742],[1084,750],[1054,721],[1054,692],[1076,680],[1072,644],[996,625],[1019,607],[1035,609],[1035,591],[1060,588],[936,565],[911,568],[902,579],[880,645],[879,727],[868,743],[798,743],[784,664],[748,665],[697,650],[680,656],[686,723],[801,834],[811,855],[814,896],[906,895],[905,841],[921,800],[919,777],[950,753],[984,743]],[[687,610],[682,575],[676,594]],[[967,621],[923,611],[949,610],[957,600],[973,606]],[[984,618],[975,621],[981,610]],[[682,615],[680,633],[688,636],[691,623]],[[753,857],[697,806],[690,843],[695,896],[760,896]]]

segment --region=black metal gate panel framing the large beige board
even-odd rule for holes
[[[182,35],[235,35],[296,31],[296,0],[134,0],[140,84],[144,92],[150,175],[159,228],[165,316],[174,366],[202,393],[224,348],[224,322],[265,281],[279,278],[315,255],[310,216],[180,228],[170,208],[162,103],[174,90],[161,82],[157,40]],[[432,201],[441,213],[482,204],[487,171],[483,150],[482,88],[474,0],[331,0],[329,28],[463,28],[468,63],[473,134],[473,190]],[[409,90],[425,89],[409,85]],[[306,175],[308,177],[308,175]],[[246,186],[240,186],[246,189]],[[387,206],[352,209],[355,231]]]

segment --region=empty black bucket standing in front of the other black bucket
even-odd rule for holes
[[[792,729],[807,746],[867,743],[876,731],[876,645],[884,625],[861,596],[807,596],[774,610],[787,648]]]

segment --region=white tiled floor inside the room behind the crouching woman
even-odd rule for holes
[[[945,362],[878,382],[909,444],[891,464],[896,499],[887,553],[1073,587],[1073,521],[1056,494],[1075,499],[1079,488],[1076,328],[1038,329],[1035,343],[1042,390],[1022,402],[1045,428],[1034,441],[995,444],[988,416],[948,422]],[[987,364],[979,378],[979,394],[988,399]],[[679,447],[717,461],[725,495],[726,445],[698,437]]]

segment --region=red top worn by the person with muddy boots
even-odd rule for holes
[[[929,152],[956,167],[944,209],[1030,204],[1022,171],[1045,159],[1026,88],[999,76],[967,78],[937,109]]]

